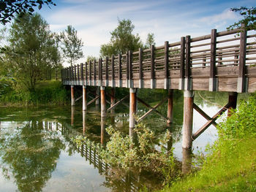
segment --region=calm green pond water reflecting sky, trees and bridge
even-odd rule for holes
[[[227,94],[220,96],[218,104],[211,103],[217,96],[208,94],[197,94],[195,103],[213,116],[225,105]],[[167,128],[172,131],[178,161],[182,160],[182,101],[182,96],[174,101],[171,127],[155,114],[144,121],[159,136]],[[78,148],[72,143],[72,137],[83,134],[105,145],[108,135],[102,130],[109,125],[129,134],[128,109],[124,105],[106,119],[100,118],[99,107],[94,106],[87,112],[82,112],[81,106],[0,109],[0,191],[138,191],[143,185],[150,190],[159,188],[158,180],[110,169],[97,151],[86,145]],[[146,109],[139,106],[138,111],[142,115]],[[166,105],[159,111],[165,112]],[[195,132],[206,120],[194,111],[193,122]],[[193,153],[202,152],[216,139],[217,130],[210,126],[193,142]]]

